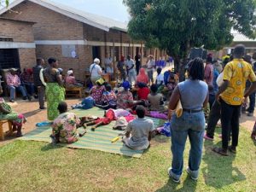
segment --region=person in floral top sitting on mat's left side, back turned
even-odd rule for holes
[[[74,143],[78,141],[79,133],[77,127],[80,119],[75,113],[67,112],[67,103],[60,102],[58,106],[60,115],[54,120],[52,125],[53,143]]]

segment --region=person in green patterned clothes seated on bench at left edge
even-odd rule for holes
[[[0,95],[3,93],[2,87],[0,87]],[[9,120],[12,122],[13,131],[17,131],[16,136],[22,137],[22,124],[26,123],[26,118],[23,114],[15,113],[12,108],[4,102],[4,99],[0,97],[0,120]]]

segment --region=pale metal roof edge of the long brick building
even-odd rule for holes
[[[26,0],[16,0],[13,3],[9,4],[9,7],[3,8],[0,10],[0,15],[8,11],[9,9],[14,8],[16,5],[24,2]],[[44,6],[48,9],[52,9],[55,12],[58,12],[62,15],[66,15],[68,17],[73,18],[74,20],[79,20],[81,22],[84,22],[85,24],[88,24],[90,26],[95,26],[97,28],[101,28],[104,31],[109,31],[109,29],[117,29],[119,31],[127,32],[127,24],[124,22],[121,22],[119,20],[113,20],[101,15],[94,15],[90,14],[84,11],[81,11],[79,9],[73,9],[71,7],[68,7],[66,5],[63,5],[61,3],[55,3],[53,1],[49,0],[27,0],[32,3],[37,3],[41,6]]]

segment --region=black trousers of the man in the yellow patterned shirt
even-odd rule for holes
[[[232,131],[232,146],[238,144],[240,105],[229,105],[221,100],[222,148],[228,149],[230,131]]]

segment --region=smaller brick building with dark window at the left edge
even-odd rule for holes
[[[36,63],[33,22],[0,17],[0,67],[30,67]]]

